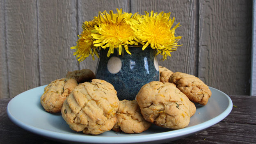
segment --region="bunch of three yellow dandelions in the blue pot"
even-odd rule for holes
[[[99,11],[98,16],[92,21],[85,21],[82,25],[83,32],[78,35],[77,45],[71,47],[75,49],[73,55],[79,62],[85,60],[89,55],[94,59],[94,55],[99,58],[99,51],[109,48],[107,57],[114,53],[116,49],[121,55],[124,50],[128,54],[129,46],[142,46],[142,50],[149,45],[156,50],[156,55],[162,55],[162,59],[171,56],[175,51],[181,37],[175,37],[175,30],[181,26],[180,23],[172,27],[174,18],[170,18],[170,13],[159,14],[145,11],[145,15],[139,13],[131,14],[117,9],[117,14],[111,10],[108,14]]]

